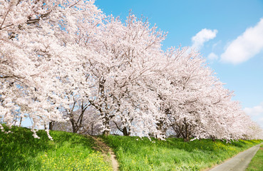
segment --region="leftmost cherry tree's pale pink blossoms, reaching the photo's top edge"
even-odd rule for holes
[[[14,124],[16,113],[27,115],[37,137],[35,128],[63,119],[59,109],[73,103],[66,93],[81,84],[75,78],[87,51],[81,51],[80,35],[92,36],[90,28],[103,18],[93,3],[0,1],[0,117],[6,125]]]

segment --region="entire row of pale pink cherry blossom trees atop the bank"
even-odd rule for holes
[[[94,1],[0,0],[0,121],[109,135],[262,138],[197,51]],[[3,132],[9,133],[0,124]],[[51,137],[50,137],[51,138]]]

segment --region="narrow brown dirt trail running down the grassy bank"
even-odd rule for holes
[[[101,138],[98,137],[92,137],[93,140],[95,140],[96,146],[97,147],[93,147],[95,150],[98,150],[100,152],[103,153],[103,157],[105,157],[106,160],[110,160],[111,165],[113,166],[113,171],[118,171],[119,170],[119,163],[118,160],[116,160],[116,156],[113,152],[113,150],[111,150],[110,147],[108,147],[108,145],[105,144],[105,142],[103,142],[103,140]],[[108,154],[110,154],[110,157],[108,156]]]

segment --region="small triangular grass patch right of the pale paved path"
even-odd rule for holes
[[[249,163],[246,171],[262,171],[263,170],[263,145],[259,149]]]

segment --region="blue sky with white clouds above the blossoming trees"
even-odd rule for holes
[[[96,0],[123,21],[131,9],[167,31],[163,49],[190,46],[207,58],[234,100],[263,128],[262,0]]]

